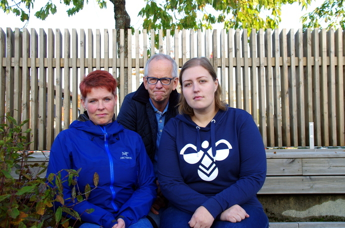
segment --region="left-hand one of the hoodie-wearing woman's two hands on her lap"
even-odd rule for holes
[[[200,206],[196,209],[188,224],[189,227],[193,228],[210,228],[213,221],[214,218],[207,209]]]

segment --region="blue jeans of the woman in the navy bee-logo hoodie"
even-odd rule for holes
[[[268,228],[268,218],[262,209],[247,204],[241,207],[249,215],[249,218],[237,223],[215,220],[211,228]],[[161,215],[160,228],[190,228],[188,222],[191,216],[192,214],[170,206]]]

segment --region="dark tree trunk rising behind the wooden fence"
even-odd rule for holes
[[[125,0],[110,0],[114,4],[114,18],[115,18],[115,28],[116,29],[124,29],[124,58],[128,57],[128,33],[127,29],[130,28],[130,17],[126,11],[126,1]],[[117,54],[119,55],[120,51],[120,41],[119,41],[120,33],[116,33],[117,38]],[[119,82],[119,78],[117,78]],[[128,69],[124,69],[124,95],[128,93]],[[118,93],[120,94],[120,93]],[[118,101],[121,101],[121,97],[119,95]]]

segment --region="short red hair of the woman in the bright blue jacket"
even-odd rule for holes
[[[116,96],[116,79],[105,70],[95,70],[87,74],[79,84],[81,99],[85,99],[92,88],[104,88]]]

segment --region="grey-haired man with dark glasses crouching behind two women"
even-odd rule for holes
[[[144,68],[143,83],[124,97],[117,122],[124,128],[137,132],[145,145],[157,177],[157,151],[161,132],[167,121],[177,115],[178,93],[177,65],[169,55],[155,54]],[[151,212],[158,215],[164,207],[164,199],[158,188],[157,200]],[[150,214],[151,217],[154,215]],[[154,221],[159,226],[158,217]]]

